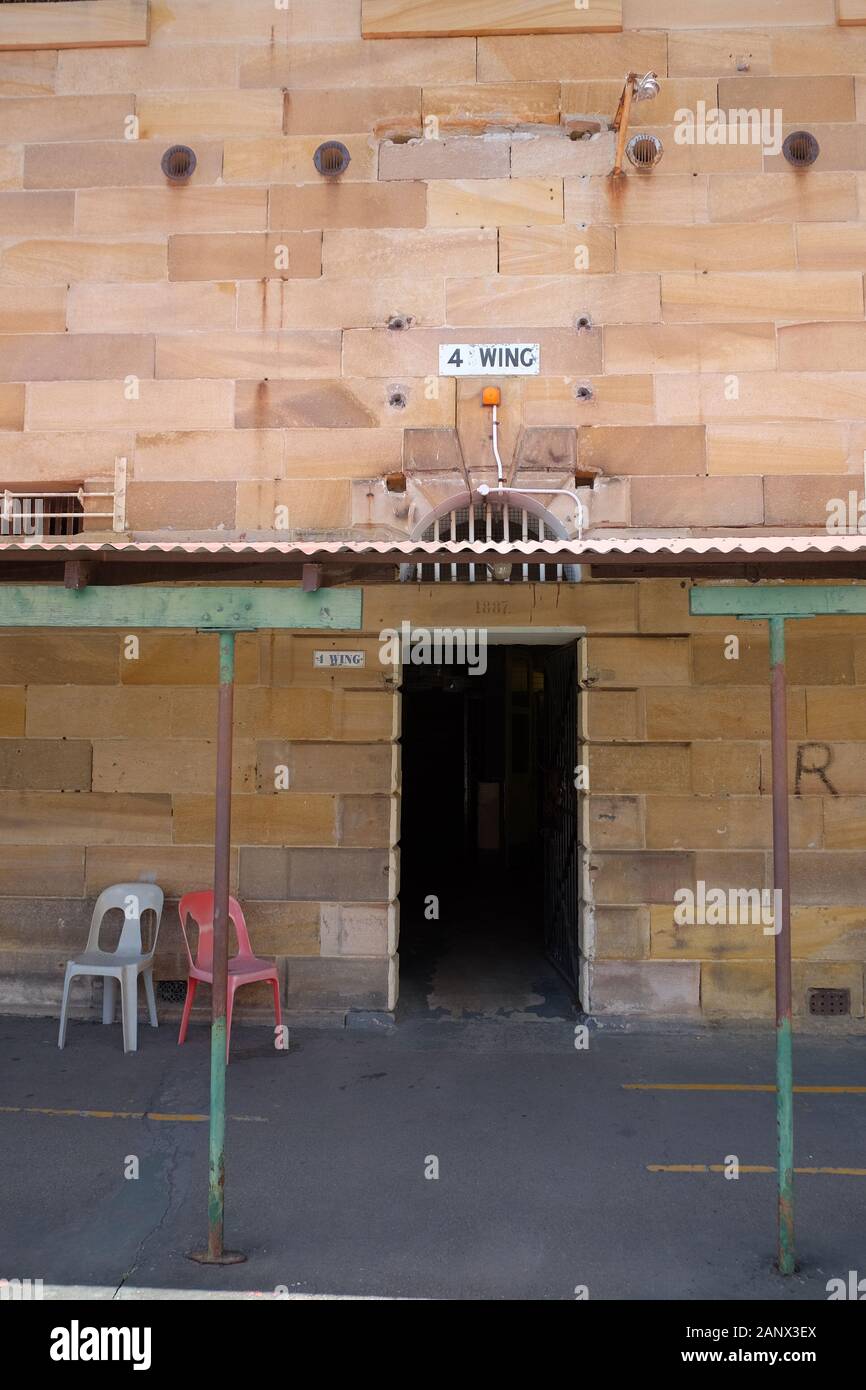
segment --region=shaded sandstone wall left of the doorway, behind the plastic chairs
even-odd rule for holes
[[[174,903],[213,880],[217,644],[142,632],[129,659],[125,637],[0,638],[7,1006],[56,1006],[93,898],[125,880],[164,890],[157,976],[185,977]],[[328,645],[238,638],[231,884],[256,949],[281,959],[289,1006],[386,1008],[396,696],[373,655],[363,673],[316,670]]]

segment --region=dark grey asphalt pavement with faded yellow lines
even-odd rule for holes
[[[783,1279],[769,1030],[591,1029],[575,1048],[564,1019],[417,1016],[292,1030],[279,1052],[238,1027],[227,1245],[247,1261],[218,1269],[186,1258],[206,1238],[207,1027],[178,1048],[171,1023],[143,1023],[126,1056],[120,1024],[74,1020],[64,1052],[56,1030],[0,1019],[0,1277],[125,1297],[826,1300],[866,1275],[862,1038],[795,1038],[795,1081],[819,1087],[795,1098],[795,1163],[819,1170],[798,1173]]]

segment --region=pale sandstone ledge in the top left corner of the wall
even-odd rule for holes
[[[0,49],[138,47],[147,32],[147,0],[0,4]]]

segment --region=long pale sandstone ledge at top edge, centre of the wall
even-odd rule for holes
[[[619,33],[623,0],[361,0],[364,39]]]

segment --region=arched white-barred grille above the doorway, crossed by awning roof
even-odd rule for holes
[[[432,523],[421,537],[423,541],[548,541],[555,532],[545,525],[542,517],[532,516],[524,507],[492,506],[477,502],[474,506],[456,507]],[[416,564],[416,580],[438,584],[442,578],[456,582],[475,584],[478,580],[492,582],[506,578],[505,573],[493,574],[491,563],[478,564]],[[499,571],[499,566],[496,570]],[[510,578],[524,578],[544,582],[562,580],[562,564],[505,564]],[[517,574],[514,573],[517,571]]]

